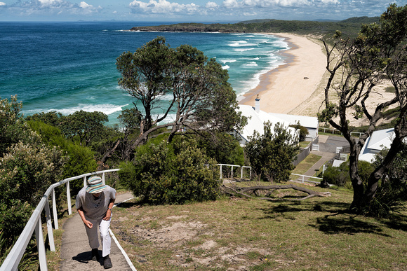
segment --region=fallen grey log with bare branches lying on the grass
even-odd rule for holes
[[[314,190],[302,187],[302,186],[295,186],[293,184],[286,184],[286,185],[274,185],[274,186],[250,186],[250,187],[242,187],[242,188],[237,188],[237,187],[230,187],[230,186],[221,186],[220,187],[225,193],[228,193],[229,195],[241,195],[243,197],[248,197],[251,198],[253,196],[247,195],[249,191],[252,191],[255,193],[257,190],[279,190],[279,189],[294,189],[298,190],[304,193],[307,193],[308,195],[305,197],[301,197],[300,199],[287,199],[287,198],[272,198],[272,197],[260,197],[261,200],[269,200],[269,201],[278,201],[278,200],[290,200],[290,201],[298,201],[298,200],[307,200],[310,197],[330,197],[331,192],[316,192]]]

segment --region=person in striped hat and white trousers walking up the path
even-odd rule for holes
[[[88,186],[82,188],[76,196],[76,209],[85,224],[89,246],[92,249],[92,260],[99,260],[99,237],[102,241],[102,258],[105,269],[112,267],[110,253],[109,227],[112,208],[116,200],[116,190],[102,183],[99,176],[91,176]]]

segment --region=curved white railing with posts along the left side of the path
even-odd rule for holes
[[[61,186],[64,183],[67,183],[67,205],[68,205],[68,214],[72,214],[72,206],[71,206],[71,192],[69,188],[69,181],[74,181],[76,179],[84,179],[84,186],[86,186],[86,177],[95,175],[95,174],[102,174],[102,181],[105,183],[105,173],[107,172],[116,172],[120,169],[108,169],[102,170],[100,172],[91,172],[82,174],[79,176],[74,176],[71,178],[64,179],[58,183],[54,183],[48,187],[46,193],[42,196],[39,204],[36,206],[36,209],[32,212],[29,221],[25,225],[24,230],[22,230],[20,237],[18,237],[17,241],[15,242],[13,249],[11,249],[10,253],[8,253],[7,258],[4,260],[3,264],[0,267],[0,271],[10,271],[10,270],[18,270],[18,264],[27,248],[27,245],[32,237],[32,234],[35,230],[36,235],[36,246],[38,248],[38,257],[39,257],[39,267],[41,271],[48,270],[46,264],[46,249],[44,244],[44,235],[41,223],[41,213],[45,209],[46,214],[46,225],[48,230],[48,240],[49,246],[51,251],[55,251],[55,242],[53,237],[53,227],[51,221],[51,209],[49,206],[49,197],[51,195],[52,205],[53,205],[53,219],[54,219],[54,228],[55,230],[58,229],[58,214],[57,214],[57,206],[55,200],[55,188]]]

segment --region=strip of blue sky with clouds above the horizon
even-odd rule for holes
[[[407,0],[0,0],[0,21],[236,22],[378,16]]]

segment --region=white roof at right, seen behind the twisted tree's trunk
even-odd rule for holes
[[[372,162],[375,154],[383,148],[390,148],[394,139],[394,128],[378,130],[372,133],[371,137],[366,139],[366,143],[361,149],[359,160]]]

